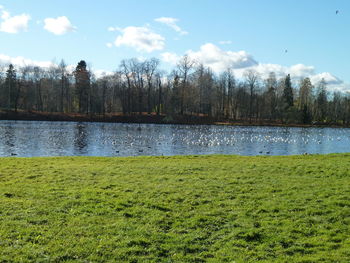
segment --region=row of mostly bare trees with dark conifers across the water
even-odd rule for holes
[[[106,115],[209,117],[218,121],[350,124],[350,97],[327,91],[310,78],[263,79],[247,70],[242,79],[228,68],[216,75],[184,56],[170,74],[158,59],[121,61],[118,70],[96,77],[84,60],[69,70],[62,60],[49,68],[12,64],[0,68],[0,108]]]

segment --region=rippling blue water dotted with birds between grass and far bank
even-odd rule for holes
[[[0,121],[0,156],[350,152],[350,129]]]

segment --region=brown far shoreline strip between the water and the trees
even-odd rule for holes
[[[87,115],[79,113],[48,113],[34,111],[0,111],[0,120],[15,121],[67,121],[67,122],[104,122],[104,123],[142,123],[142,124],[178,124],[178,125],[227,125],[227,126],[256,126],[256,127],[295,127],[295,128],[349,128],[349,125],[316,123],[281,123],[267,121],[225,121],[207,116],[184,115],[167,117],[156,114],[105,114]]]

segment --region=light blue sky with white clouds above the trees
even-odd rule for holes
[[[337,12],[338,11],[338,12]],[[0,63],[117,70],[122,59],[181,56],[220,74],[322,78],[350,91],[348,0],[0,0]]]

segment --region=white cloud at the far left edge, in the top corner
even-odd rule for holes
[[[1,13],[1,23],[0,31],[10,34],[17,34],[21,31],[27,31],[28,22],[30,20],[30,15],[21,14],[16,16],[11,16],[9,12],[4,10],[3,6],[0,6]]]

